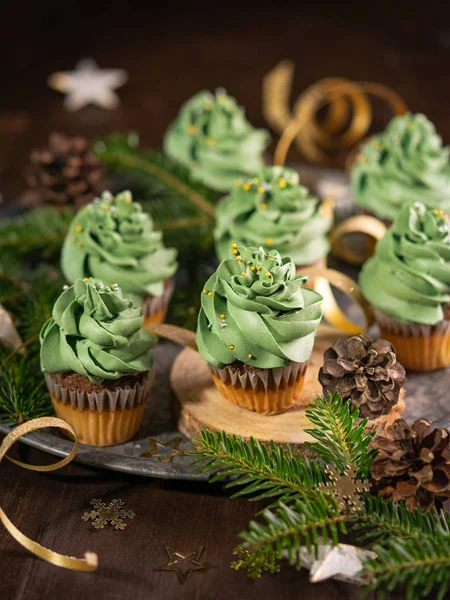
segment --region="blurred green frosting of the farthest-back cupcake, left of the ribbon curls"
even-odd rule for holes
[[[164,151],[186,165],[192,177],[218,191],[258,171],[269,144],[265,129],[255,129],[245,110],[223,88],[203,91],[185,102],[164,136]]]

